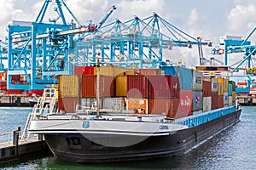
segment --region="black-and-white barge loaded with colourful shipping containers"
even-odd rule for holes
[[[100,73],[99,70],[97,72]],[[166,77],[168,72],[172,73],[172,77]],[[108,93],[103,91],[106,84],[108,88],[113,86],[107,81],[108,78],[102,81],[100,74],[96,77],[59,77],[58,111],[53,111],[56,100],[53,98],[44,111],[44,103],[41,103],[30,115],[29,133],[44,134],[50,150],[63,160],[91,163],[181,155],[235,124],[241,115],[241,109],[232,98],[230,82],[223,78],[205,81],[199,71],[172,67],[165,70],[165,75],[154,75],[154,78],[152,75],[123,75],[127,85],[123,88],[126,88],[125,95],[129,99],[125,99],[126,104],[122,109],[120,105],[113,107],[122,102],[116,102],[111,107],[109,103],[100,105],[101,100],[108,99],[100,94],[110,95],[110,99],[112,94],[117,94],[112,90]],[[163,79],[166,82],[162,82]],[[67,82],[79,83],[77,88],[73,88],[76,93],[68,91],[68,94],[65,88]],[[83,93],[88,87],[96,95],[95,102],[92,102],[96,105],[91,107],[91,102],[90,105],[83,102],[84,96],[92,97],[89,96],[91,91]],[[210,92],[204,91],[206,89]],[[74,98],[75,94],[79,96]],[[66,103],[63,103],[64,95],[67,97]],[[143,99],[137,99],[139,97]],[[133,102],[137,100],[139,105]]]

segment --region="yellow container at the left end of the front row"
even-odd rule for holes
[[[60,75],[59,81],[59,96],[64,97],[79,97],[81,76],[79,75]]]

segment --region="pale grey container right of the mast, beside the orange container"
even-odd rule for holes
[[[103,99],[103,108],[114,111],[125,110],[125,98],[105,98]]]

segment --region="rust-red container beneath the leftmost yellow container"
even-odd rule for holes
[[[76,106],[79,105],[79,98],[59,98],[58,109],[66,113],[74,113]]]

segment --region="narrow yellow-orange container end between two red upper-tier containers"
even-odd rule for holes
[[[116,97],[126,97],[127,95],[127,76],[115,77]]]

